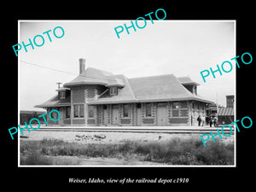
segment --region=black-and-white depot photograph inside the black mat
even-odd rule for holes
[[[20,166],[236,166],[236,20],[19,32]]]

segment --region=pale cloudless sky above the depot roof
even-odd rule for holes
[[[22,47],[18,52],[20,110],[40,110],[34,106],[55,96],[57,82],[65,84],[79,75],[79,58],[86,60],[85,67],[124,74],[128,79],[189,76],[200,84],[200,96],[223,106],[225,96],[235,95],[236,64],[230,61],[236,56],[234,20],[154,20],[154,24],[147,20],[143,29],[130,28],[130,34],[124,30],[118,38],[114,28],[124,23],[129,26],[131,20],[20,20],[17,44],[29,44],[28,39],[37,35],[44,37],[43,46],[27,46],[27,52]],[[62,38],[53,34],[56,26],[63,28]],[[52,42],[43,34],[49,30]],[[55,32],[61,36],[60,29]],[[42,43],[40,38],[37,43]],[[216,79],[210,75],[204,82],[201,71],[217,69],[224,61],[230,61],[233,70],[215,73]]]

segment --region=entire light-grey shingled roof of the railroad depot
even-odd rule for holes
[[[74,85],[81,84],[101,84],[106,86],[106,91],[97,98],[88,100],[88,104],[111,104],[128,102],[168,102],[195,100],[207,103],[210,102],[199,95],[192,94],[183,84],[196,84],[189,77],[177,78],[174,74],[148,76],[142,78],[127,79],[125,75],[113,75],[96,68],[89,67],[83,73],[67,84],[72,90]],[[110,95],[107,89],[112,86],[119,87],[117,95]],[[53,96],[47,102],[36,107],[61,107],[70,106],[71,98],[67,96],[64,100],[59,100],[58,96]]]

